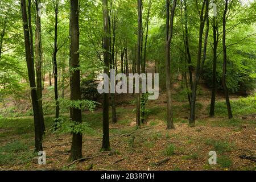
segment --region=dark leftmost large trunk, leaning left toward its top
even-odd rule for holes
[[[21,6],[21,10],[22,10],[28,79],[30,82],[32,108],[33,108],[33,113],[34,113],[35,152],[39,152],[39,151],[43,150],[43,146],[42,146],[42,143],[43,143],[43,130],[42,130],[43,118],[42,118],[42,114],[40,114],[38,94],[37,94],[37,90],[36,90],[35,68],[34,68],[34,59],[33,59],[32,52],[31,52],[31,42],[30,42],[31,35],[30,35],[29,28],[28,28],[26,0],[21,0],[20,6]]]

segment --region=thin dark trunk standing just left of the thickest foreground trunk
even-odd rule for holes
[[[57,28],[58,28],[58,14],[59,14],[59,0],[56,0],[53,2],[54,11],[55,11],[55,28],[54,28],[54,47],[53,47],[53,75],[54,75],[54,95],[55,95],[55,105],[56,105],[56,111],[55,111],[55,129],[57,126],[57,119],[60,115],[60,106],[59,106],[59,94],[58,94],[58,69],[57,69]]]

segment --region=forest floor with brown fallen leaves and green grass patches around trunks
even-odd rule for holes
[[[255,162],[240,156],[256,155],[256,97],[230,96],[234,118],[227,119],[222,95],[214,118],[208,116],[210,90],[201,89],[199,95],[196,127],[189,127],[189,105],[179,86],[174,87],[175,130],[166,130],[165,94],[148,102],[142,129],[135,127],[135,103],[123,101],[117,107],[118,123],[110,123],[110,152],[100,152],[101,109],[85,111],[83,121],[92,127],[92,133],[83,135],[82,155],[88,159],[71,165],[72,135],[49,131],[51,115],[45,117],[47,164],[42,166],[33,154],[33,118],[0,118],[0,170],[255,170]],[[217,165],[209,165],[210,151],[216,151]]]

